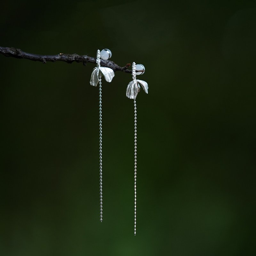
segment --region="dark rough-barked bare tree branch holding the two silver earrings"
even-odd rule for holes
[[[41,61],[44,64],[47,61],[51,61],[51,62],[64,61],[67,63],[82,62],[84,65],[86,65],[87,62],[96,63],[96,58],[93,58],[87,55],[78,55],[76,53],[74,54],[59,53],[57,55],[38,55],[38,54],[23,52],[20,49],[13,48],[13,47],[2,47],[2,46],[0,46],[0,53],[6,57]],[[123,71],[125,73],[132,73],[132,70],[128,69],[130,65],[131,64],[126,64],[124,67],[120,67],[111,60],[100,60],[100,66],[111,68],[114,71]]]

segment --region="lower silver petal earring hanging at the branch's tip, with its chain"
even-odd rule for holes
[[[136,72],[137,70],[137,72]],[[142,75],[145,72],[145,68],[142,64],[132,63],[132,81],[128,84],[126,89],[126,97],[134,100],[134,236],[136,235],[136,179],[137,179],[137,107],[136,97],[140,92],[140,85],[143,90],[148,93],[148,83],[142,80],[136,79],[136,75]]]

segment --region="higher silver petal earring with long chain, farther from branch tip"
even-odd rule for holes
[[[102,102],[101,102],[101,74],[105,77],[107,82],[111,82],[115,76],[111,68],[100,67],[100,58],[108,60],[112,56],[111,51],[103,49],[97,51],[96,63],[97,67],[93,69],[90,84],[97,86],[99,83],[99,126],[100,126],[100,221],[102,222]]]

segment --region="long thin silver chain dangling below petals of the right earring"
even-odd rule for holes
[[[134,236],[136,235],[137,108],[134,99]]]

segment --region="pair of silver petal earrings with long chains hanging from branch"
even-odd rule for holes
[[[99,84],[99,125],[100,125],[100,221],[102,222],[102,106],[101,106],[101,75],[105,77],[107,82],[111,82],[115,76],[111,68],[100,67],[100,59],[108,60],[112,56],[109,49],[97,51],[96,64],[93,69],[90,84],[97,86]],[[137,71],[137,72],[136,72]],[[140,92],[140,85],[143,90],[148,93],[148,84],[145,81],[136,79],[136,75],[142,75],[145,68],[142,64],[132,63],[132,81],[126,89],[126,97],[134,100],[134,235],[136,235],[136,178],[137,178],[137,107],[136,96]]]

